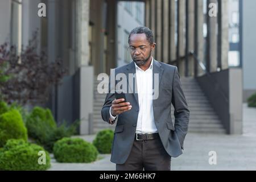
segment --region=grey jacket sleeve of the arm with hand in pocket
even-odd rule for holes
[[[175,67],[174,81],[172,82],[172,105],[174,106],[175,133],[179,138],[180,146],[183,148],[185,135],[188,132],[189,110],[183,90],[181,88],[180,75]]]

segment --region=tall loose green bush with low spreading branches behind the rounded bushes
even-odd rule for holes
[[[28,136],[52,152],[53,144],[64,137],[71,137],[75,134],[77,123],[67,126],[66,123],[57,127],[53,119],[51,110],[42,107],[34,107],[31,114],[27,117],[26,126]]]

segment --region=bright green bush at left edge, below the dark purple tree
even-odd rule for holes
[[[27,140],[27,129],[22,116],[16,109],[0,115],[0,147],[4,146],[9,139]]]

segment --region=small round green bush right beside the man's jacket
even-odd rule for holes
[[[96,138],[93,140],[93,144],[101,154],[110,154],[113,139],[114,132],[110,129],[106,129],[97,133]]]

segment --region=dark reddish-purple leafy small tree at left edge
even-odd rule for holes
[[[43,104],[48,100],[49,88],[65,75],[62,60],[49,63],[46,52],[37,53],[37,38],[38,31],[19,55],[15,46],[0,46],[0,94],[9,104]]]

